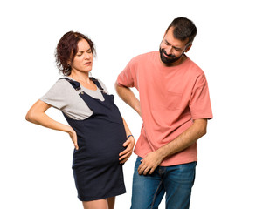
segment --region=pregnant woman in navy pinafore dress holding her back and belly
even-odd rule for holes
[[[67,132],[73,140],[73,177],[84,208],[113,209],[114,198],[126,192],[122,165],[132,154],[135,139],[114,96],[89,77],[95,49],[90,38],[69,31],[59,40],[56,62],[65,76],[28,111],[31,123]],[[50,107],[63,112],[69,125],[45,114]]]

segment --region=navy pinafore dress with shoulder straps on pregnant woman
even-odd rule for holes
[[[73,152],[73,177],[81,201],[106,199],[126,192],[119,153],[125,147],[126,132],[114,96],[108,95],[97,79],[91,78],[100,89],[104,101],[81,91],[80,83],[66,79],[78,91],[80,98],[93,111],[84,120],[65,116],[77,133],[79,150]]]

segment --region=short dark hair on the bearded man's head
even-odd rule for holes
[[[196,25],[186,17],[177,17],[169,25],[166,32],[173,27],[173,36],[181,41],[189,38],[188,44],[192,44],[194,38],[197,35]]]

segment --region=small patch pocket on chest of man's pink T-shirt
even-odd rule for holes
[[[182,104],[182,93],[167,91],[166,108],[171,111],[179,110]]]

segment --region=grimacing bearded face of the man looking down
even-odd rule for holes
[[[173,36],[173,27],[165,33],[160,44],[160,58],[165,65],[175,65],[183,57],[183,53],[190,50],[188,39],[181,41]]]

